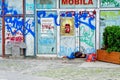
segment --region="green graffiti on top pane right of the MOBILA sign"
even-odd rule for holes
[[[118,0],[102,0],[102,7],[120,7],[120,1]]]

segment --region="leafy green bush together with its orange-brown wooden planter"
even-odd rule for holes
[[[120,64],[120,26],[107,26],[103,32],[102,49],[97,50],[97,60]]]

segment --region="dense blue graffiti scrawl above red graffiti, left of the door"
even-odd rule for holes
[[[33,37],[35,36],[35,33],[31,30],[31,27],[33,27],[35,24],[34,22],[30,23],[30,19],[25,22],[25,27],[23,27],[24,21],[20,17],[7,17],[5,18],[5,23],[6,30],[12,35],[16,35],[17,32],[20,31],[20,33],[24,36],[28,33],[31,33]]]

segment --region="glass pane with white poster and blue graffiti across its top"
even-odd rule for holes
[[[56,53],[57,13],[38,11],[38,53]]]

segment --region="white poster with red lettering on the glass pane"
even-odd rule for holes
[[[53,34],[54,33],[54,19],[53,18],[41,18],[41,34]]]

